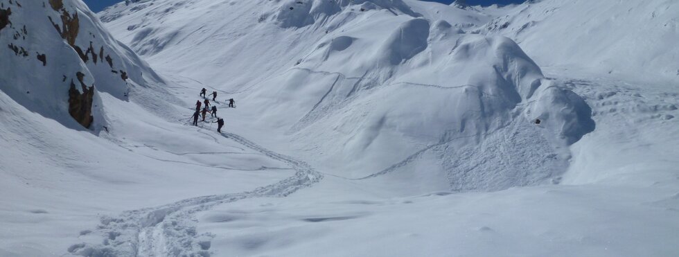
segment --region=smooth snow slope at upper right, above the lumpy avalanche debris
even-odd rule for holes
[[[514,39],[540,66],[679,80],[677,1],[543,0],[480,11],[497,18],[478,33]]]

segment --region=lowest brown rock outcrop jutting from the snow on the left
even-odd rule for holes
[[[92,116],[92,102],[94,101],[94,86],[87,87],[82,82],[85,75],[78,73],[78,80],[80,80],[80,87],[82,93],[76,89],[76,84],[71,81],[71,89],[69,89],[69,114],[76,119],[80,125],[89,128],[94,121]]]

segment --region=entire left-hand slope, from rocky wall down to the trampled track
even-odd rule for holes
[[[282,157],[180,122],[184,102],[80,0],[1,0],[0,43],[0,256],[92,253],[81,244],[119,235],[96,230],[105,215],[306,181]]]

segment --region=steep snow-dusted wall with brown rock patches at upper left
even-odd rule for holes
[[[72,128],[105,127],[100,92],[127,100],[160,81],[80,0],[0,0],[0,45],[0,90]]]

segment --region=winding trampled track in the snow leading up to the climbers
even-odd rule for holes
[[[71,245],[68,248],[69,253],[97,257],[211,256],[211,239],[214,235],[197,233],[195,213],[248,198],[286,197],[323,178],[320,172],[304,161],[267,150],[237,134],[222,132],[222,136],[267,157],[288,163],[296,170],[295,174],[252,191],[193,197],[163,206],[125,211],[116,218],[102,217],[96,231],[103,236],[103,242],[100,245]],[[91,232],[81,231],[80,235]]]

